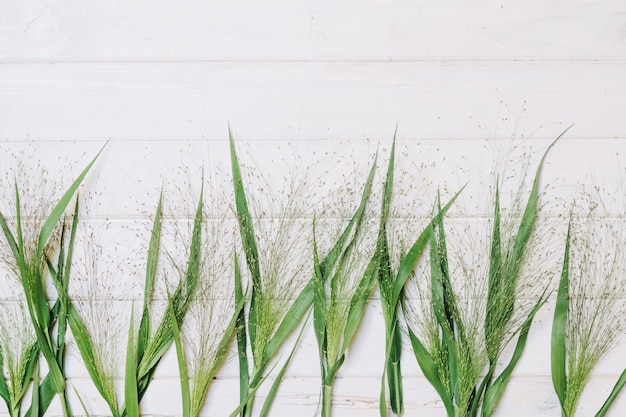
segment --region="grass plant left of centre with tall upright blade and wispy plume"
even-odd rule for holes
[[[287,181],[286,190],[274,206],[259,207],[251,212],[244,178],[229,130],[232,180],[235,192],[235,210],[239,223],[244,258],[250,274],[249,289],[241,282],[241,270],[236,263],[236,302],[241,303],[250,294],[247,308],[241,310],[237,319],[237,346],[240,369],[240,404],[231,416],[248,417],[256,391],[267,378],[267,372],[286,339],[301,325],[312,300],[313,268],[305,264],[310,237],[305,233],[301,184]],[[270,190],[261,189],[262,195]],[[251,200],[254,204],[254,199]],[[262,222],[261,213],[277,209],[276,217]],[[255,217],[253,214],[255,213]],[[300,333],[301,334],[301,333]],[[267,415],[278,386],[295,351],[280,367],[274,379],[260,415]],[[250,354],[250,356],[249,356]],[[250,364],[250,359],[252,364]]]

